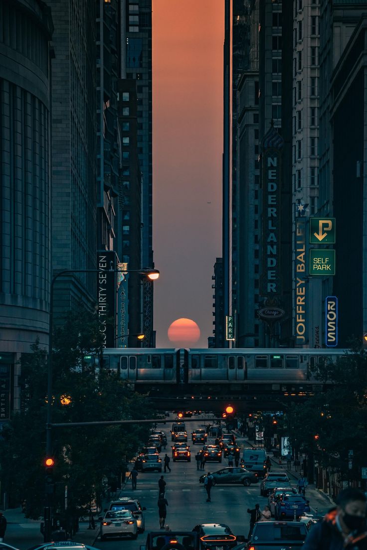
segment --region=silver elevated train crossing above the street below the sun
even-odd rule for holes
[[[139,384],[295,383],[315,381],[313,372],[335,362],[343,349],[160,349],[103,350],[103,368]]]

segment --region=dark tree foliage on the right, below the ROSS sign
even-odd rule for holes
[[[280,432],[291,438],[295,449],[317,454],[321,465],[336,466],[344,478],[358,479],[360,468],[366,466],[367,351],[354,346],[336,364],[317,365],[314,375],[325,383],[325,392],[302,406],[292,404]],[[349,450],[353,450],[352,469]]]

